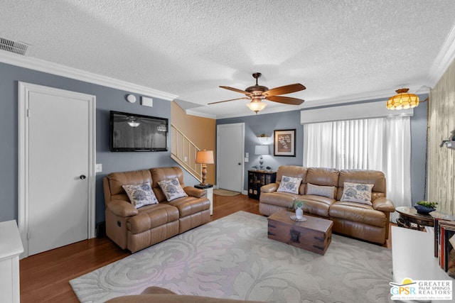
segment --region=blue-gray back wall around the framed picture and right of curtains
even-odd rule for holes
[[[421,100],[427,97],[427,94],[419,95]],[[366,100],[363,102],[373,101],[380,100]],[[383,101],[385,103],[385,100]],[[424,102],[414,108],[414,116],[411,117],[411,199],[413,205],[424,199],[427,105],[428,102]],[[217,121],[217,125],[228,123],[245,123],[245,153],[250,153],[250,162],[245,163],[244,190],[247,190],[248,186],[247,170],[250,170],[253,165],[259,165],[259,156],[255,155],[255,145],[259,145],[256,136],[261,133],[273,136],[273,131],[276,129],[296,128],[296,157],[274,157],[271,147],[271,155],[264,156],[264,165],[272,167],[273,170],[277,170],[279,165],[303,165],[303,126],[300,123],[300,110],[220,119]],[[391,184],[387,184],[387,186],[391,186]]]

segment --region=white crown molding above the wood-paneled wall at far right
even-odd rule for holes
[[[451,62],[455,58],[455,25],[451,28],[449,35],[447,35],[444,44],[439,50],[439,54],[434,59],[432,67],[429,69],[429,81],[431,87],[439,82],[444,72],[449,68]]]

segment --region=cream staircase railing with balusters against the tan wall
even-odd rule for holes
[[[202,165],[196,163],[198,150],[196,144],[171,123],[171,158],[201,182]]]

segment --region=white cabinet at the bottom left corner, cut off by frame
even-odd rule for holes
[[[23,253],[15,220],[0,222],[0,302],[19,302],[19,255]]]

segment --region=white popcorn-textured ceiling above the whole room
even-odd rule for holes
[[[299,82],[301,106],[428,92],[452,56],[455,1],[2,0],[0,37],[26,56],[174,94],[190,112],[254,114],[245,89]],[[447,45],[449,43],[449,45]],[[441,63],[442,62],[442,63]]]

